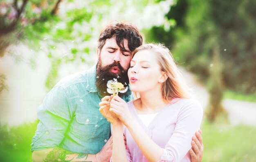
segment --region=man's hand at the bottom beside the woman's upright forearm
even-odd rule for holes
[[[102,147],[101,151],[95,155],[97,162],[109,162],[112,155],[113,136]]]

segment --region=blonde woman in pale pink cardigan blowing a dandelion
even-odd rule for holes
[[[162,44],[138,47],[128,77],[140,98],[126,103],[116,95],[100,102],[99,110],[112,124],[112,162],[190,162],[202,107],[189,99],[171,52]]]

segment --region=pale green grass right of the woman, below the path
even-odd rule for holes
[[[256,128],[204,122],[203,162],[255,162]]]

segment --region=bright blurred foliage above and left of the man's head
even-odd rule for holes
[[[8,15],[16,11],[13,7],[15,2],[15,0],[12,3],[7,0],[1,2],[6,11],[1,15],[1,20],[6,22],[4,29],[10,25]],[[9,46],[25,44],[35,51],[35,55],[38,51],[47,55],[52,64],[45,84],[48,89],[51,89],[59,80],[58,71],[63,64],[93,64],[97,38],[106,24],[117,20],[131,22],[141,31],[162,24],[165,24],[167,29],[170,23],[164,15],[173,4],[171,0],[160,2],[155,2],[155,0],[127,2],[119,0],[20,0],[18,2],[24,2],[24,4],[26,2],[26,5],[19,18],[14,16],[17,19],[16,26],[8,34],[2,35],[0,40],[6,43],[5,38],[9,38]],[[150,21],[151,19],[157,21]],[[2,51],[5,51],[2,53],[5,55],[11,53],[11,49],[6,51],[6,47],[7,45],[4,45],[2,48]],[[31,67],[35,69],[34,56],[31,56],[29,60],[31,60]]]

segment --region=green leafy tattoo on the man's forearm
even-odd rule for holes
[[[69,158],[69,156],[67,156],[69,154],[78,154],[76,159],[81,159],[85,157],[85,160],[86,160],[88,158],[87,153],[73,153],[65,149],[61,149],[59,147],[54,147],[53,150],[48,153],[47,157],[43,161],[44,162],[71,162],[74,158],[72,158],[71,160],[66,160],[66,158]],[[84,162],[88,162],[88,161],[84,161]]]

